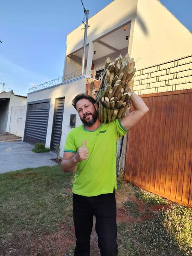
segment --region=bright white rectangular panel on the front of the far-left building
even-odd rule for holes
[[[12,107],[9,133],[19,137],[23,136],[25,128],[26,105]]]

